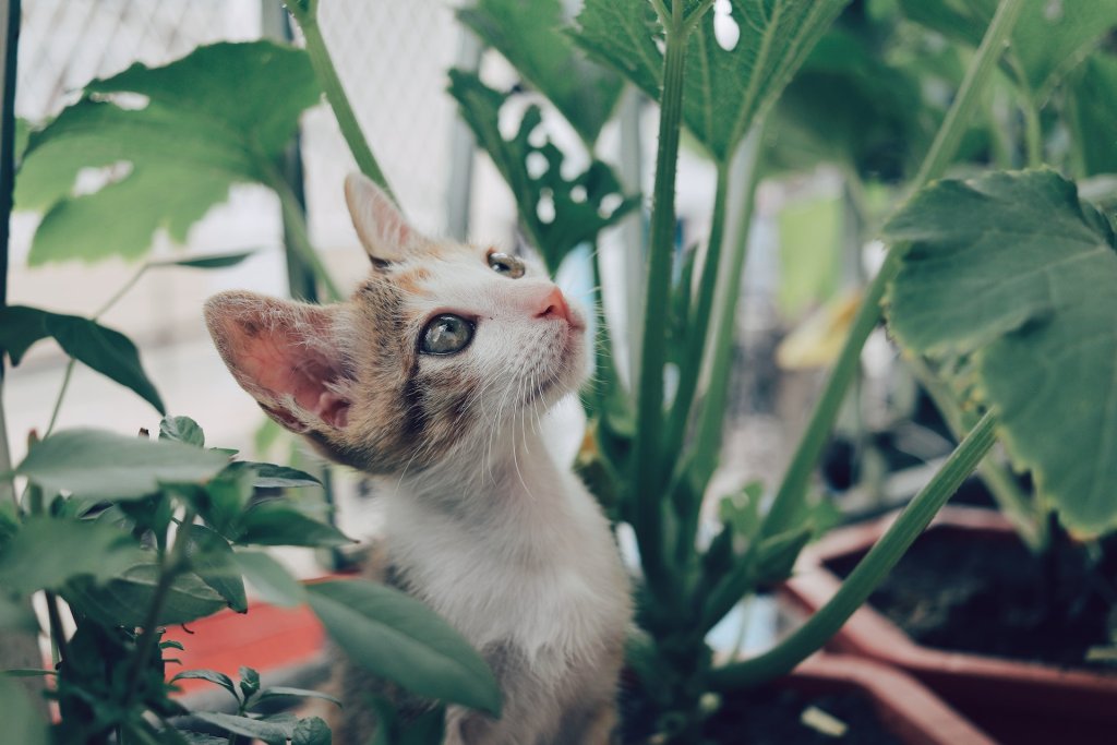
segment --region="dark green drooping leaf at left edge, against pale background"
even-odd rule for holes
[[[7,350],[12,364],[19,364],[32,344],[48,336],[66,354],[132,389],[163,413],[163,400],[144,373],[140,351],[121,332],[82,316],[20,305],[0,308],[0,348]]]

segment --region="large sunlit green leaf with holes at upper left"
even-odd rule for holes
[[[306,52],[270,41],[199,47],[94,80],[30,137],[16,203],[46,213],[29,261],[137,257],[161,229],[183,241],[230,185],[274,181],[273,163],[317,97]],[[106,182],[75,193],[89,168],[108,169]]]

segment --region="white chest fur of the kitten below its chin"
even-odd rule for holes
[[[562,676],[623,636],[627,580],[577,478],[533,434],[517,445],[474,477],[460,464],[457,484],[400,481],[385,498],[389,556],[478,649],[512,643],[537,672]]]

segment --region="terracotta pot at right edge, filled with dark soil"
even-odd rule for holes
[[[831,532],[803,553],[796,575],[781,589],[784,598],[808,612],[821,608],[841,584],[824,563],[865,553],[892,519]],[[928,529],[960,539],[1016,539],[997,513],[984,509],[947,507]],[[1101,743],[1113,742],[1117,732],[1117,675],[920,647],[868,605],[829,649],[911,674],[1004,743]]]

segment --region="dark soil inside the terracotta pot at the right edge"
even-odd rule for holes
[[[1117,563],[1117,552],[1106,552]],[[1113,671],[1087,661],[1110,644],[1114,566],[1091,564],[1065,543],[1050,556],[1030,553],[1014,537],[958,541],[932,528],[869,599],[917,642],[1062,667]],[[861,558],[827,563],[844,577]]]

